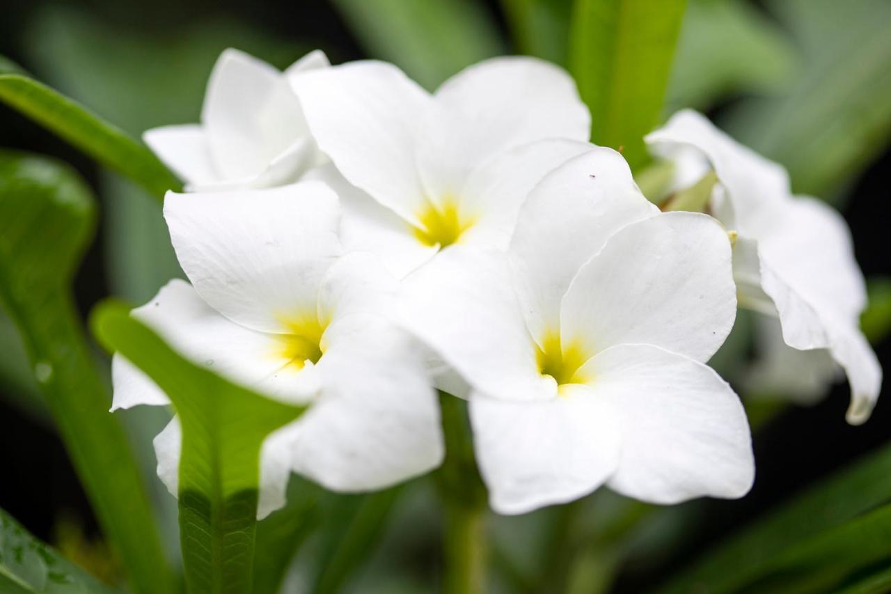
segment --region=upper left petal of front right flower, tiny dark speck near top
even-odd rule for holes
[[[578,268],[618,228],[658,214],[619,153],[601,147],[542,179],[519,211],[511,263],[535,340],[559,327],[560,300]]]

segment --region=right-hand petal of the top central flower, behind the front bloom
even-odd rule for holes
[[[458,198],[459,210],[474,219],[461,243],[506,249],[532,188],[547,173],[592,148],[589,143],[552,138],[511,149],[474,169]]]

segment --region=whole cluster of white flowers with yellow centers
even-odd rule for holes
[[[747,419],[707,367],[738,293],[779,313],[790,346],[828,349],[850,419],[869,414],[880,370],[837,216],[689,113],[650,142],[680,155],[678,186],[715,169],[715,217],[661,212],[589,129],[572,78],[531,58],[429,94],[384,62],[314,52],[279,72],[229,50],[200,125],[146,133],[186,182],[164,215],[190,283],[134,315],[195,362],[311,405],[266,439],[260,516],[291,472],[367,491],[438,466],[437,389],[469,400],[500,513],[603,484],[740,497]],[[168,403],[119,356],[113,380],[115,408]],[[180,441],[176,418],[155,441],[173,492]]]

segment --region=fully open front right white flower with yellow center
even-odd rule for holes
[[[735,293],[723,227],[659,213],[593,148],[535,186],[509,252],[443,252],[405,279],[400,310],[472,387],[491,505],[516,514],[603,483],[655,503],[748,491],[746,416],[703,363]]]

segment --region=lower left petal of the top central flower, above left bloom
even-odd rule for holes
[[[397,278],[404,277],[437,253],[437,246],[419,242],[405,219],[351,186],[333,164],[311,170],[304,179],[322,180],[338,194],[343,210],[340,241],[345,250],[376,254]]]

